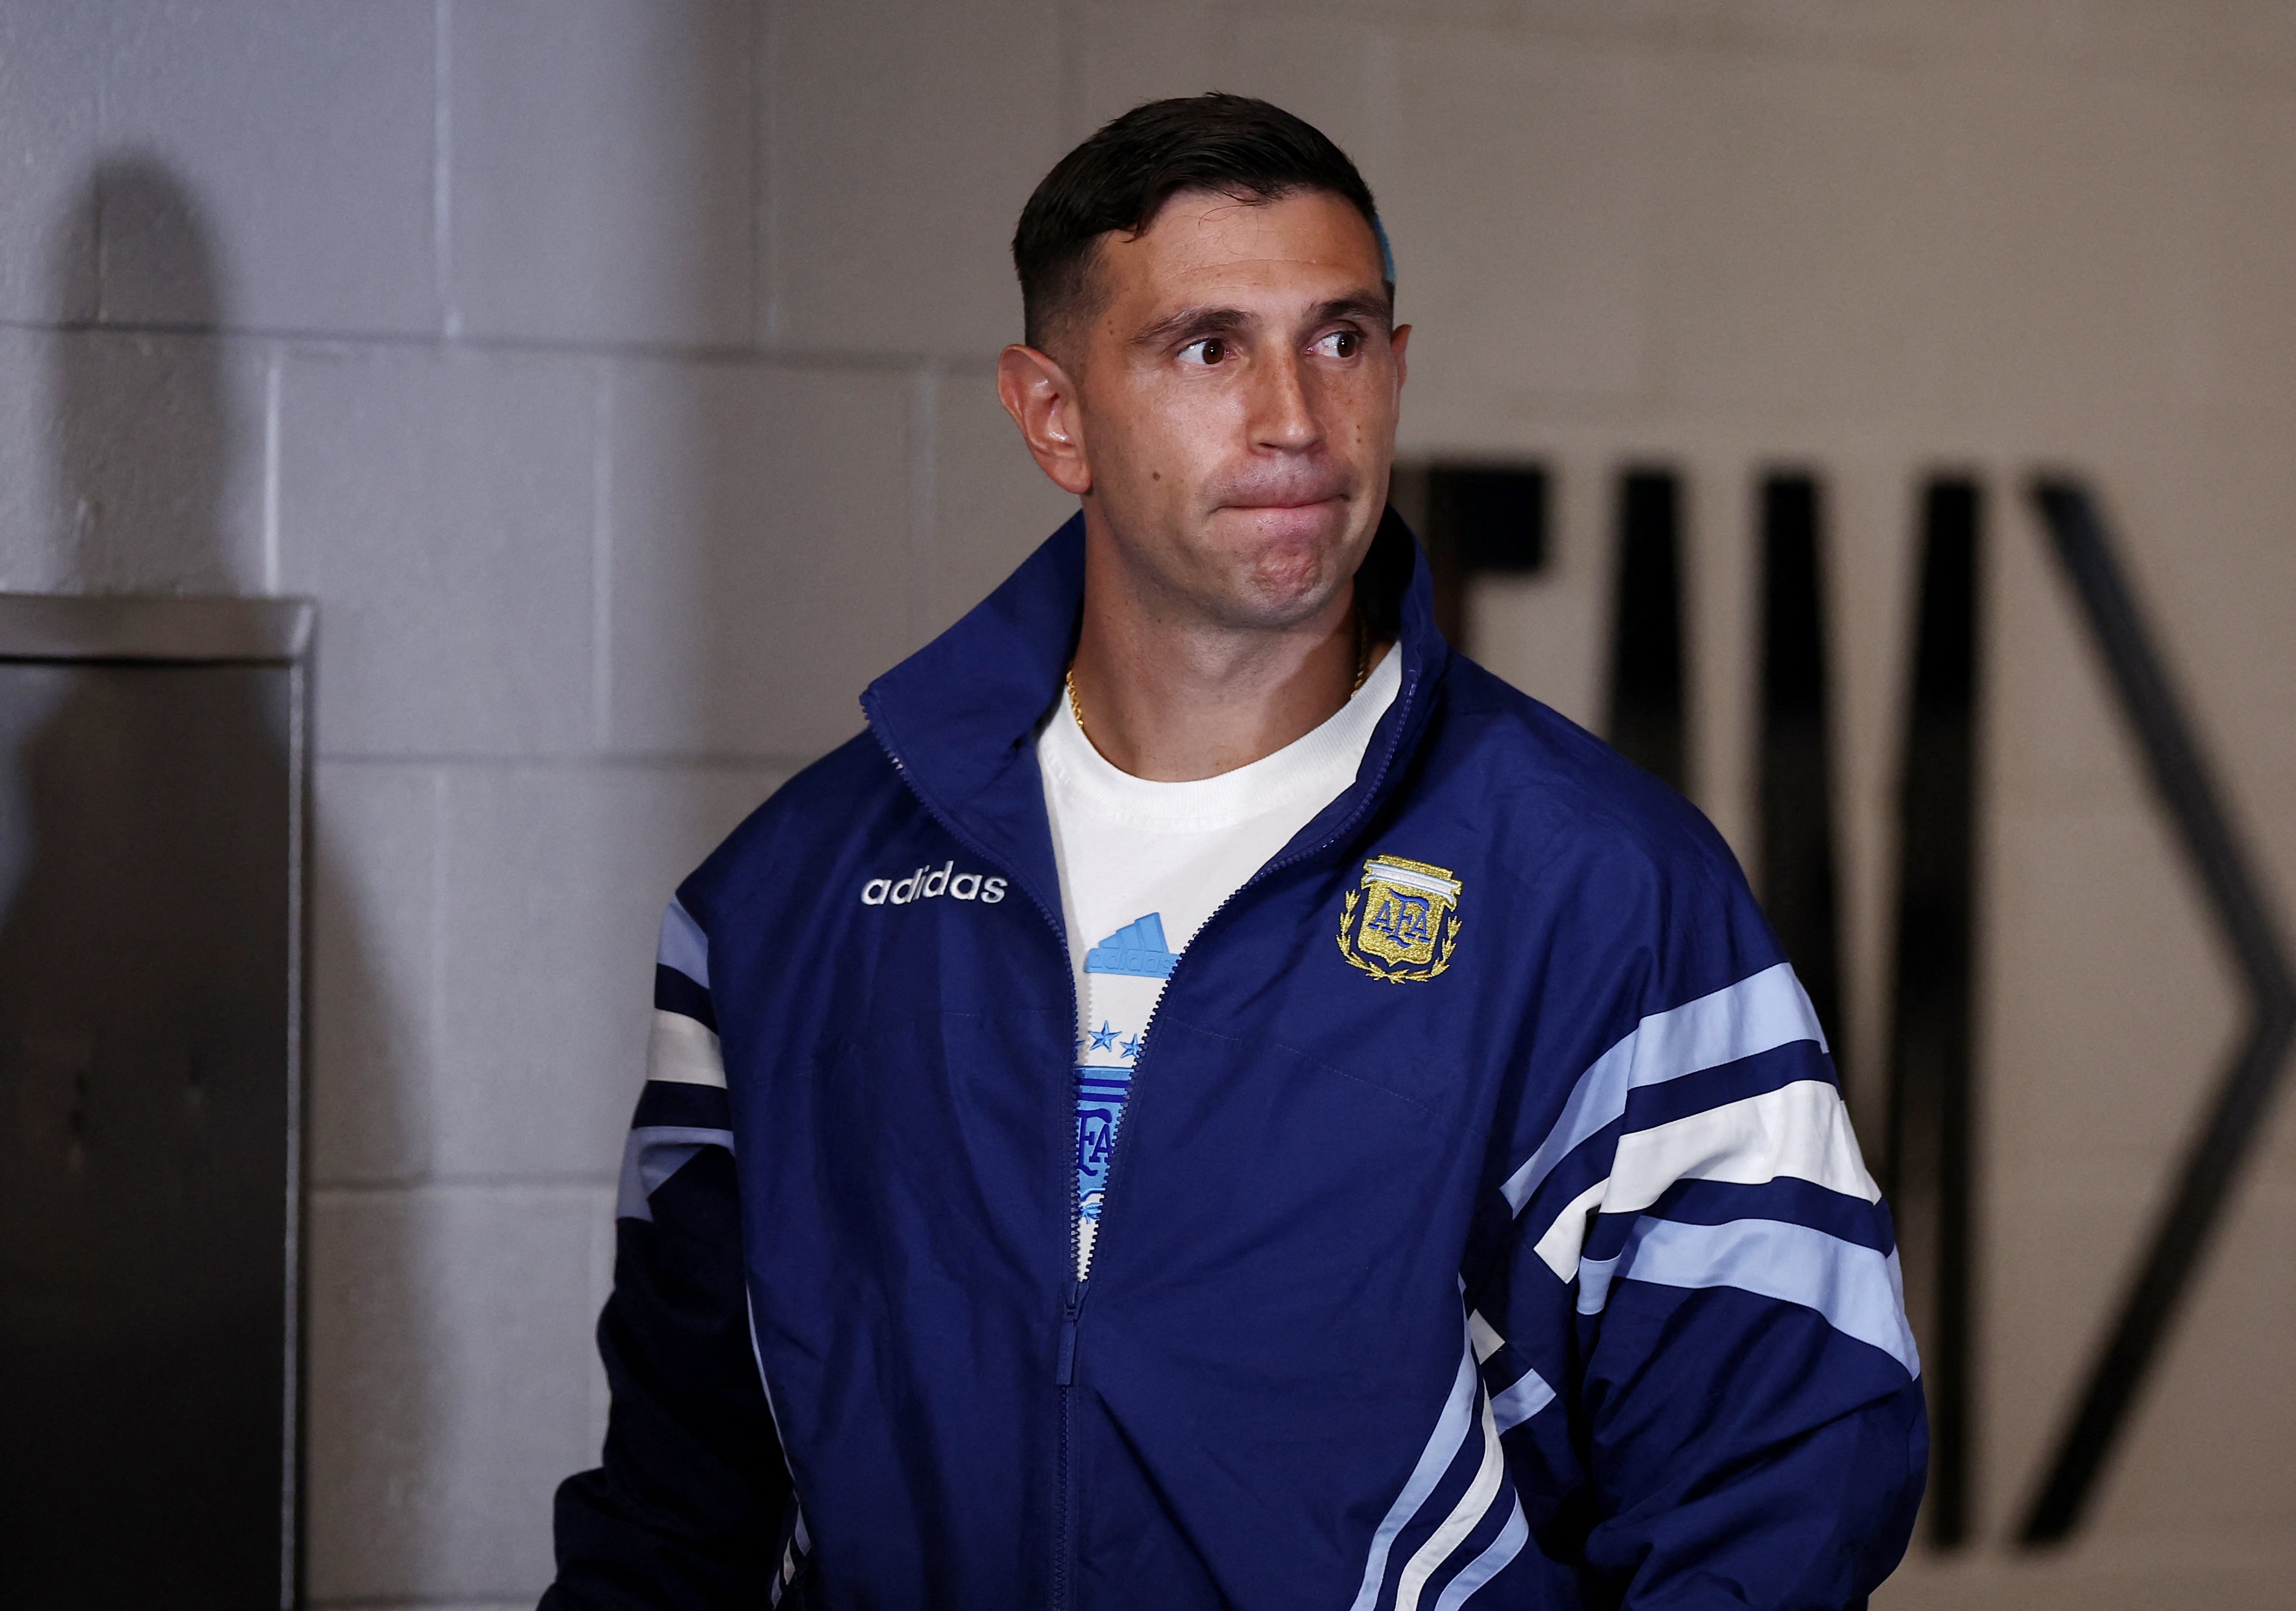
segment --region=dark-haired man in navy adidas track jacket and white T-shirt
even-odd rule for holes
[[[670,904],[546,1604],[1862,1604],[1887,1212],[1715,833],[1435,633],[1364,181],[1162,101],[1015,259],[1081,514]]]

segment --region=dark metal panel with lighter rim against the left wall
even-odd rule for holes
[[[312,610],[0,594],[0,1604],[296,1597]]]

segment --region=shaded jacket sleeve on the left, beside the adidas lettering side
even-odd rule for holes
[[[707,943],[677,902],[597,1345],[613,1393],[604,1462],[558,1487],[558,1579],[542,1611],[774,1604],[801,1528],[751,1347]]]

